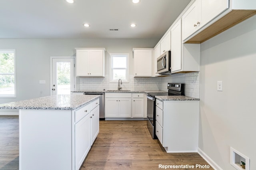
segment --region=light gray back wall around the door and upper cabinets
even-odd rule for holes
[[[158,39],[0,39],[0,49],[16,49],[16,98],[0,98],[8,103],[50,95],[50,57],[75,56],[76,47],[104,47],[109,53],[130,53],[132,48],[153,48]],[[109,61],[106,61],[108,67]],[[46,80],[46,84],[39,84]]]

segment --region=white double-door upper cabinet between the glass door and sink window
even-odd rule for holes
[[[104,77],[105,49],[76,48],[76,76]]]

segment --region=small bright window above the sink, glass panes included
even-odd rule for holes
[[[128,53],[111,53],[111,79],[110,82],[117,82],[121,79],[124,82],[128,82]]]

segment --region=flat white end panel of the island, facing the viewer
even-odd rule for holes
[[[71,170],[71,119],[70,110],[20,109],[19,170]]]

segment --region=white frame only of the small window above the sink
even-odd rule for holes
[[[113,80],[113,56],[115,55],[126,55],[126,79],[122,80],[122,83],[129,83],[129,53],[110,53],[110,83],[117,83],[118,80]],[[118,69],[116,67],[115,69]],[[121,68],[120,68],[121,69]],[[123,69],[123,68],[122,68]]]

